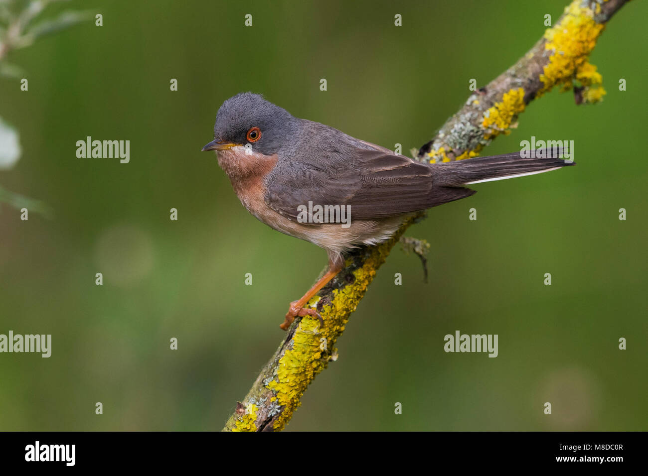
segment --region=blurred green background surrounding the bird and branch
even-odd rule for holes
[[[49,359],[0,354],[0,429],[222,428],[326,257],[255,220],[214,154],[200,152],[220,104],[263,93],[408,155],[459,109],[470,78],[481,86],[504,71],[567,3],[48,8],[43,17],[96,10],[104,26],[90,20],[12,52],[29,91],[0,79],[0,117],[23,147],[0,185],[54,210],[21,221],[0,205],[0,333],[52,334]],[[485,151],[518,150],[531,135],[573,140],[577,167],[476,185],[411,227],[432,244],[429,284],[396,247],[289,430],[648,429],[646,14],[645,2],[623,7],[592,54],[602,104],[553,91]],[[130,140],[130,163],[76,158],[87,135]],[[446,354],[455,330],[498,334],[499,356]]]

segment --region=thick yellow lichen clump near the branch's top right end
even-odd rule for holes
[[[582,0],[570,3],[561,21],[544,33],[544,47],[551,51],[551,56],[540,74],[543,87],[538,97],[556,85],[560,86],[561,91],[568,91],[572,89],[574,80],[584,87],[584,102],[597,102],[605,95],[601,74],[597,73],[596,66],[588,62],[588,56],[605,25],[596,23],[594,12],[581,5]],[[600,12],[600,8],[597,3],[596,12]]]

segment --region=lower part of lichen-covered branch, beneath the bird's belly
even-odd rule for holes
[[[324,325],[316,317],[295,319],[248,396],[237,404],[226,431],[283,429],[308,384],[338,358],[336,340],[404,229],[389,242],[359,249],[347,258],[347,266],[309,303],[318,309]]]

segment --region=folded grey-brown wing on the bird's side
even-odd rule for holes
[[[351,216],[358,220],[424,210],[474,193],[437,183],[433,165],[375,147],[333,150],[324,159],[277,163],[264,184],[266,203],[295,220],[297,207],[308,206],[309,201],[322,206],[351,205]]]

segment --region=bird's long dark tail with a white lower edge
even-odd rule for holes
[[[538,151],[535,152],[536,156],[545,155]],[[568,165],[574,165],[574,163],[562,159],[524,159],[520,157],[520,152],[513,152],[437,164],[435,172],[441,172],[437,176],[443,185],[457,187],[471,183],[542,174],[542,172],[550,172],[550,170]]]

